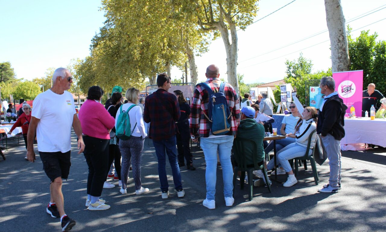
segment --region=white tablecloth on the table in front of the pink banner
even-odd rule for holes
[[[340,144],[366,143],[386,147],[386,119],[345,119],[345,137]]]

